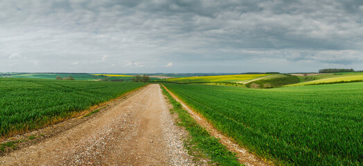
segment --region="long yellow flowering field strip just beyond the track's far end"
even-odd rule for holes
[[[269,74],[254,74],[254,75],[216,75],[216,76],[201,76],[201,77],[179,77],[163,80],[163,82],[177,83],[208,83],[208,82],[243,82],[253,80],[258,77],[264,77]]]

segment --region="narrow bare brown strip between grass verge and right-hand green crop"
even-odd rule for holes
[[[199,123],[202,127],[206,129],[206,131],[209,131],[211,136],[214,136],[215,138],[218,138],[220,143],[222,145],[226,146],[229,151],[232,151],[233,153],[236,153],[236,156],[238,157],[238,161],[245,165],[272,165],[271,162],[267,162],[266,160],[260,159],[251,152],[248,151],[248,149],[245,149],[243,147],[240,147],[238,144],[236,144],[231,138],[224,136],[220,131],[215,129],[213,125],[206,120],[200,113],[197,113],[191,107],[189,107],[186,103],[184,103],[182,100],[180,100],[177,95],[169,91],[169,89],[166,88],[163,84],[161,84],[168,93],[177,100],[180,104],[182,104],[183,108],[188,111],[189,114],[191,114],[191,117],[194,118],[197,123]]]

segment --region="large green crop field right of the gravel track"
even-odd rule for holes
[[[276,164],[363,164],[363,82],[278,89],[164,85],[215,128]]]

